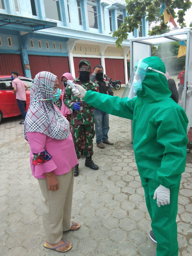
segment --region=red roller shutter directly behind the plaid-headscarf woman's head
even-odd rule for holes
[[[63,89],[61,76],[69,71],[68,57],[29,55],[31,77],[34,78],[40,71],[49,71],[55,74],[59,80],[59,88]]]

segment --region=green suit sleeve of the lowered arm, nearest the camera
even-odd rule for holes
[[[156,180],[166,188],[177,185],[178,175],[185,171],[187,123],[187,116],[180,108],[166,109],[166,113],[163,111],[155,118],[157,142],[165,148]]]

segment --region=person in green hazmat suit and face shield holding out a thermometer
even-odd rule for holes
[[[129,97],[122,99],[76,87],[81,94],[75,89],[73,93],[91,106],[133,120],[133,149],[151,217],[150,238],[157,243],[157,256],[177,256],[177,202],[188,119],[170,98],[164,63],[159,57],[138,61]]]

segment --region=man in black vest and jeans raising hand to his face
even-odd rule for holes
[[[113,96],[113,90],[107,79],[103,78],[103,67],[96,65],[90,77],[90,80],[98,85],[99,92]],[[109,132],[109,114],[99,109],[94,108],[95,117],[95,136],[96,143],[99,148],[104,148],[103,143],[113,145],[114,143],[108,140]]]

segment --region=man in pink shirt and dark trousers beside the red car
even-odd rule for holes
[[[19,73],[17,71],[11,72],[11,78],[13,79],[12,81],[13,93],[16,95],[16,100],[17,100],[19,110],[25,121],[25,116],[26,116],[25,101],[26,101],[26,91],[28,89],[28,86],[26,83],[20,80],[18,76],[19,76]],[[24,124],[24,121],[21,121],[20,124]]]

